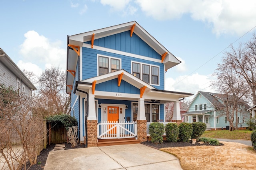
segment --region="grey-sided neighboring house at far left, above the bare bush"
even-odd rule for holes
[[[24,93],[26,96],[32,95],[32,90],[36,87],[26,75],[18,68],[18,66],[8,57],[8,55],[0,48],[0,84],[13,86],[14,90],[18,90],[19,94]]]

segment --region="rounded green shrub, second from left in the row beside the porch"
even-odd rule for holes
[[[177,123],[168,123],[165,126],[166,131],[166,139],[168,142],[174,143],[177,142],[178,134],[179,134],[179,128]]]

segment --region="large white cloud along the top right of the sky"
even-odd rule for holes
[[[255,26],[255,0],[135,0],[147,16],[156,20],[173,20],[190,14],[219,34],[241,35]]]

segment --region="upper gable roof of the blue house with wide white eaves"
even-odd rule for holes
[[[134,25],[135,24],[135,25]],[[131,30],[131,27],[134,25],[133,32],[138,35],[143,41],[145,41],[152,49],[154,49],[159,55],[166,54],[164,58],[164,65],[166,70],[180,64],[179,61],[170,51],[168,51],[164,46],[162,46],[154,37],[152,37],[145,29],[143,29],[136,21],[131,21],[127,23],[122,23],[119,25],[114,25],[111,27],[106,27],[102,29],[97,29],[94,31],[88,31],[85,33],[80,33],[76,35],[68,36],[67,43],[68,45],[76,45],[79,47],[83,47],[84,42],[91,41],[92,35],[94,34],[94,39],[99,39],[102,37],[106,37],[109,35],[114,35],[117,33],[121,33],[124,31]],[[67,47],[67,70],[75,70],[76,64],[78,60],[78,55],[72,50],[72,48]],[[74,78],[70,72],[67,72],[67,85],[73,84]],[[70,90],[67,88],[67,92]]]

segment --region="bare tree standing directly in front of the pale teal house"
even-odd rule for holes
[[[238,125],[238,112],[242,113],[240,106],[244,104],[242,98],[248,94],[248,84],[246,79],[237,70],[237,65],[234,63],[234,59],[241,59],[244,56],[244,51],[241,49],[241,45],[238,49],[231,47],[232,51],[225,53],[222,58],[222,63],[218,64],[218,68],[215,71],[217,81],[212,84],[222,94],[224,100],[224,107],[219,107],[222,111],[222,115],[227,117],[227,121],[230,125],[230,131],[234,130],[234,117],[236,117],[235,127]],[[241,69],[244,60],[241,60]]]

